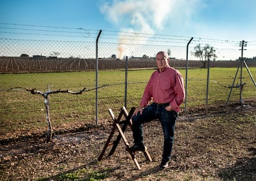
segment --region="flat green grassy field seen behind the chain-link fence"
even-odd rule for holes
[[[211,68],[208,90],[208,103],[223,104],[227,101],[229,88],[232,85],[234,68]],[[143,89],[153,70],[130,70],[127,85],[127,109],[138,106]],[[186,70],[180,72],[186,79]],[[187,82],[187,107],[205,106],[207,69],[189,69]],[[251,74],[256,77],[256,67],[250,68]],[[123,70],[100,71],[99,83],[99,123],[109,120],[108,109],[114,111],[124,106],[124,79]],[[247,70],[243,70],[242,82],[246,83],[243,98],[255,97],[255,86]],[[240,71],[234,85],[240,83]],[[90,122],[95,123],[95,72],[59,72],[35,74],[0,74],[0,115],[1,134],[5,135],[16,129],[47,127],[43,96],[32,95],[23,89],[36,88],[45,92],[49,85],[50,90],[79,91],[86,86],[87,90],[82,95],[58,93],[50,95],[50,116],[53,126],[61,126],[65,122]],[[21,87],[21,88],[15,88]],[[9,90],[15,88],[14,90]],[[233,88],[231,101],[239,101],[239,89]],[[184,108],[184,104],[182,104]]]

